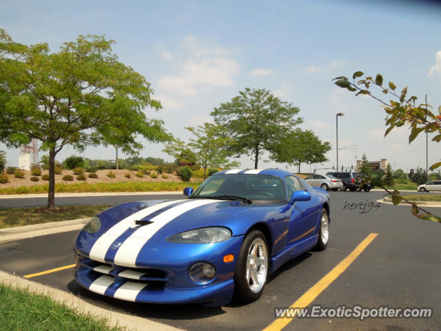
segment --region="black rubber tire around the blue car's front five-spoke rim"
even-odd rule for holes
[[[247,279],[247,268],[248,268],[247,257],[252,248],[252,245],[256,243],[256,241],[258,243],[263,243],[265,245],[267,262],[266,262],[266,270],[265,270],[266,273],[265,279],[262,279],[263,285],[261,285],[261,288],[254,291],[252,290],[252,286],[254,284],[250,284],[252,283],[252,279]],[[242,246],[240,247],[240,251],[238,254],[236,270],[234,271],[234,299],[236,299],[237,301],[241,301],[243,303],[249,303],[259,299],[267,283],[268,272],[269,272],[269,250],[268,250],[267,239],[265,238],[265,234],[263,234],[262,231],[252,230],[252,232],[249,232],[249,234],[247,234],[247,237],[243,239]]]

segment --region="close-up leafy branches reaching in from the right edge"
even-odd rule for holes
[[[346,88],[350,92],[356,92],[357,96],[360,94],[368,95],[382,103],[382,107],[387,114],[386,125],[388,126],[386,132],[384,132],[384,137],[394,128],[408,125],[410,128],[409,143],[416,139],[421,132],[435,133],[432,141],[441,141],[441,106],[438,107],[439,114],[435,115],[429,110],[429,108],[432,107],[427,103],[427,97],[424,103],[417,105],[416,100],[418,98],[415,95],[409,97],[407,87],[403,88],[401,92],[397,92],[396,85],[392,81],[389,81],[387,86],[383,84],[384,79],[381,74],[376,74],[375,79],[369,76],[360,78],[363,75],[363,72],[357,71],[353,73],[352,81],[349,81],[345,76],[336,77],[333,81],[340,88]],[[356,79],[358,79],[358,81]],[[388,97],[391,97],[391,99],[384,101],[380,97],[377,97],[373,94],[371,86],[377,88]],[[434,163],[429,169],[433,170],[439,167],[441,167],[441,162]],[[415,177],[415,175],[413,177]],[[415,202],[405,199],[398,190],[393,190],[393,192],[386,188],[384,188],[384,190],[391,194],[394,205],[397,205],[400,201],[406,201],[412,206],[412,214],[419,219],[427,219],[441,223],[441,217],[435,216],[431,214],[431,212],[419,207]],[[425,212],[425,214],[419,214],[420,210]]]

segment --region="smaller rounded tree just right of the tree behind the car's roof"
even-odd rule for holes
[[[271,146],[270,158],[276,162],[298,166],[301,163],[322,163],[328,161],[326,152],[331,150],[329,142],[322,142],[311,130],[300,129],[288,132]]]

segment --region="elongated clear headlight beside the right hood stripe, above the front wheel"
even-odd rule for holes
[[[170,243],[218,243],[232,237],[227,228],[201,228],[173,234],[167,238]]]

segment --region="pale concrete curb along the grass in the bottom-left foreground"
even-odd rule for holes
[[[150,321],[143,317],[136,317],[129,314],[123,314],[121,312],[114,312],[104,308],[96,307],[79,299],[72,293],[58,290],[57,288],[51,288],[48,285],[36,283],[34,281],[28,281],[21,277],[8,274],[7,272],[0,271],[0,282],[6,285],[10,285],[12,288],[22,288],[29,290],[32,293],[44,294],[51,297],[54,301],[61,303],[62,305],[72,308],[76,312],[83,312],[85,314],[92,314],[95,318],[104,318],[109,321],[109,325],[112,326],[126,326],[127,330],[150,330],[150,331],[178,331],[181,329],[174,328],[170,325]],[[182,331],[182,330],[181,330]]]

